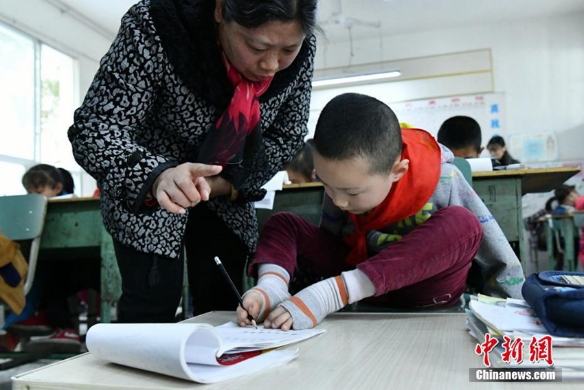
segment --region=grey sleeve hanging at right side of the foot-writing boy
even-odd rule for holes
[[[452,168],[453,165],[451,165]],[[485,293],[522,299],[523,267],[501,227],[458,169],[452,170],[449,205],[466,207],[477,216],[483,238],[476,255],[485,279]],[[445,172],[442,172],[442,176]]]

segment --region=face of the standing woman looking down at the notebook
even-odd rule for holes
[[[300,23],[272,21],[254,29],[223,20],[217,1],[215,21],[221,47],[229,62],[251,81],[262,81],[286,69],[296,58],[304,32]]]

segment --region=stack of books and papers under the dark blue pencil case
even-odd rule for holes
[[[485,342],[485,335],[497,339],[498,343],[488,354],[491,367],[494,368],[547,368],[545,360],[530,361],[530,342],[546,336],[551,337],[551,358],[554,368],[561,368],[562,378],[584,378],[584,338],[568,338],[550,335],[543,327],[537,315],[521,299],[499,299],[478,295],[473,297],[467,310],[467,327],[469,334],[477,339],[478,344]],[[505,348],[504,336],[511,343],[517,339],[523,342],[523,360],[517,363],[502,359]]]

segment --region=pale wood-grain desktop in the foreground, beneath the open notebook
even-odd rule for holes
[[[188,321],[218,325],[234,312],[212,312]],[[470,382],[469,369],[483,368],[465,314],[335,313],[302,341],[299,356],[273,367],[213,385],[199,385],[83,354],[13,377],[12,389],[581,389],[563,382]]]

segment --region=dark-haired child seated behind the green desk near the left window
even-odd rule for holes
[[[28,193],[42,194],[47,198],[74,193],[71,174],[49,164],[34,165],[23,175],[22,184]],[[9,314],[5,328],[27,336],[39,333],[50,335],[47,339],[30,341],[30,350],[46,348],[54,353],[79,352],[80,336],[74,330],[68,297],[87,288],[100,290],[98,260],[67,264],[60,260],[38,262],[25,309],[18,316]]]

